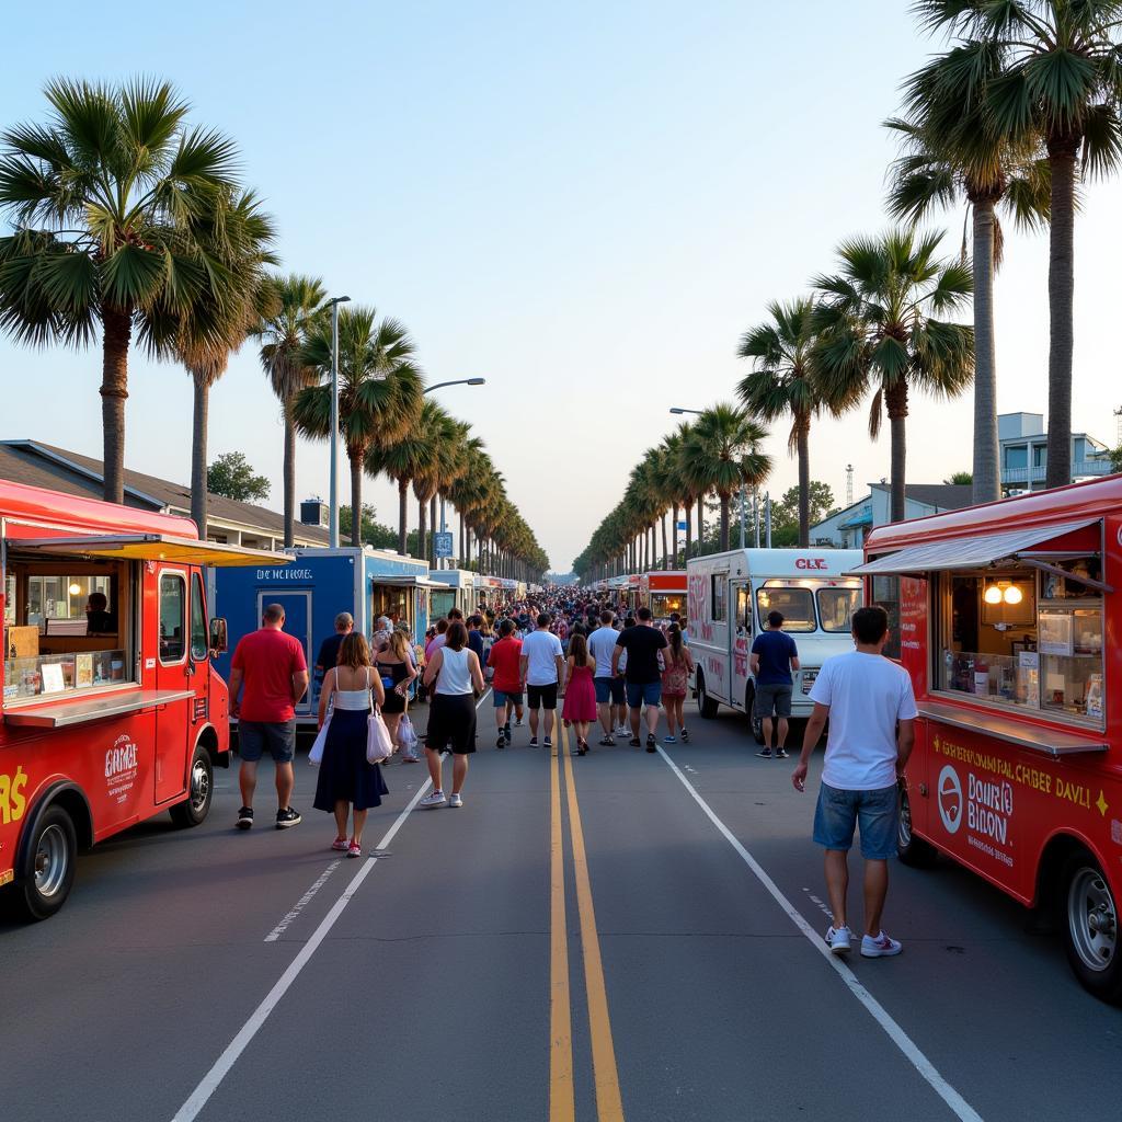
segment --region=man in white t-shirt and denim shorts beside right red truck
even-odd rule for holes
[[[854,828],[859,824],[865,858],[861,953],[866,958],[881,958],[899,955],[902,949],[881,928],[881,913],[889,892],[889,858],[896,853],[896,782],[916,741],[916,695],[908,672],[882,653],[889,638],[884,608],[858,608],[853,614],[853,638],[856,650],[827,659],[810,691],[815,711],[807,721],[791,782],[797,791],[806,790],[807,762],[828,717],[830,733],[815,810],[815,842],[826,848],[826,888],[834,916],[826,942],[835,954],[849,950],[848,856]]]

